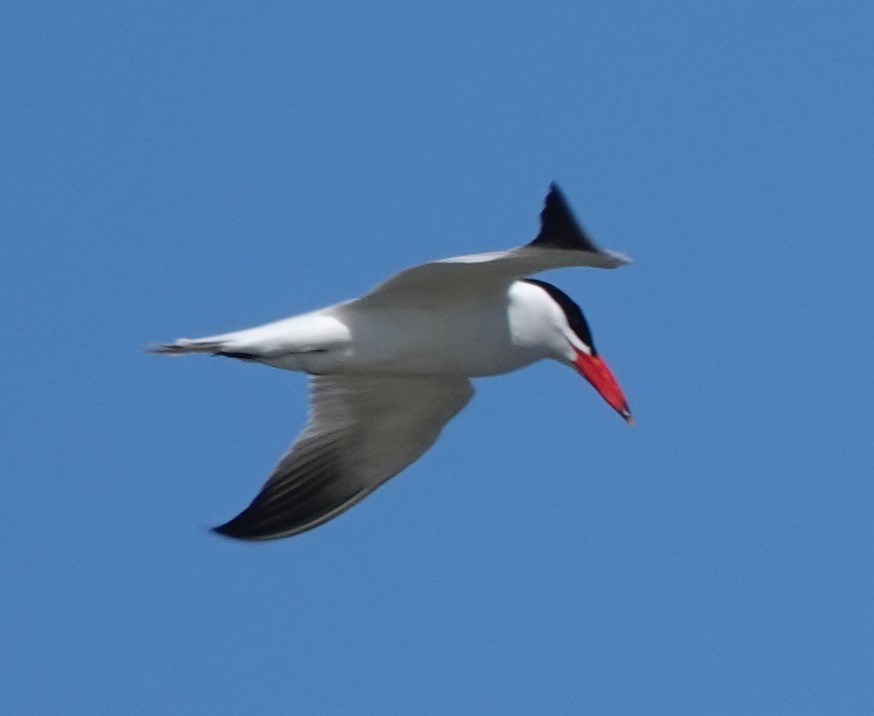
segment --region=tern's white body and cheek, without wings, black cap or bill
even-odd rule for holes
[[[487,301],[384,307],[352,300],[281,321],[200,339],[257,353],[275,368],[317,375],[479,377],[544,358],[571,360],[556,328],[564,316],[522,281]]]

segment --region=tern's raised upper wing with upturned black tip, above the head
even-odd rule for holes
[[[569,266],[616,268],[629,263],[622,254],[592,241],[555,184],[540,212],[540,233],[525,246],[506,251],[455,256],[401,271],[365,294],[360,301],[388,303],[446,302],[500,290],[513,281],[548,269]]]

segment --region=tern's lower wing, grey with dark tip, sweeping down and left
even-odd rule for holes
[[[466,378],[313,376],[310,417],[243,512],[216,532],[289,537],[366,497],[416,460],[473,395]]]

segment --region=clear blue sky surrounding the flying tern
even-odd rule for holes
[[[874,6],[6,2],[0,691],[15,714],[874,712]],[[528,241],[571,371],[270,544],[208,527],[306,381],[146,355]]]

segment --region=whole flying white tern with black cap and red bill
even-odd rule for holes
[[[155,353],[211,353],[310,375],[303,432],[252,503],[216,532],[289,537],[349,509],[418,459],[473,396],[470,379],[551,358],[575,368],[625,420],[631,412],[579,306],[527,278],[615,268],[552,184],[531,243],[406,269],[361,298]]]

